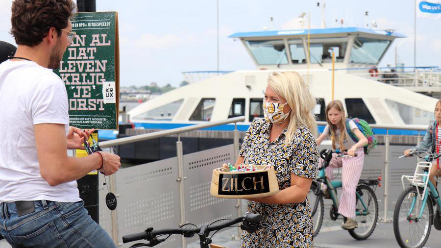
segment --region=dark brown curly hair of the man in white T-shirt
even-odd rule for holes
[[[43,41],[52,26],[60,36],[74,10],[72,0],[14,0],[11,34],[17,45],[34,47]]]

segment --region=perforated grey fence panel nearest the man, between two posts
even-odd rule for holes
[[[142,232],[149,226],[160,229],[179,224],[177,177],[176,158],[124,168],[116,173],[116,194],[120,195],[116,209],[119,243],[122,243],[124,235]],[[179,236],[170,237],[167,242],[158,245],[179,246]]]

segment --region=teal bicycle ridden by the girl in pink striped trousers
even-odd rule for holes
[[[332,206],[329,211],[331,220],[336,221],[339,218],[339,200],[337,198],[337,189],[342,188],[342,181],[330,181],[325,175],[325,169],[329,166],[332,159],[332,154],[337,153],[338,156],[348,156],[339,150],[333,151],[324,149],[320,151],[320,157],[323,158],[322,167],[319,168],[319,175],[311,184],[311,189],[308,194],[308,199],[312,207],[311,215],[313,216],[313,236],[319,234],[320,227],[323,223],[323,191],[321,185],[325,184],[328,187]],[[358,223],[357,228],[348,230],[349,234],[357,240],[367,239],[375,229],[378,220],[378,202],[375,196],[375,189],[379,185],[379,178],[375,179],[360,179],[355,191],[355,220]]]

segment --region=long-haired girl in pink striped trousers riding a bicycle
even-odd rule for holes
[[[333,179],[334,168],[343,167],[342,169],[342,197],[340,198],[339,214],[346,217],[342,228],[349,230],[358,226],[355,217],[355,188],[363,170],[363,162],[365,158],[364,146],[368,144],[368,139],[358,129],[354,121],[345,118],[343,104],[340,100],[333,100],[326,106],[327,125],[323,133],[317,138],[317,145],[327,137],[332,141],[332,149],[340,149],[347,151],[352,157],[338,157],[333,154],[329,166],[326,168],[326,176]],[[348,124],[349,128],[346,128]],[[349,130],[352,133],[348,133]],[[358,138],[355,142],[350,136],[354,134]],[[357,156],[355,156],[357,154]],[[323,159],[320,158],[320,163]],[[325,186],[326,187],[326,186]],[[329,197],[328,189],[323,190],[325,198]]]

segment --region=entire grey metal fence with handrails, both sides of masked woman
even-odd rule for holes
[[[121,247],[122,237],[126,234],[140,232],[148,226],[155,228],[176,227],[191,221],[195,224],[207,224],[221,218],[229,218],[242,214],[239,200],[213,198],[210,196],[211,174],[214,168],[224,162],[236,160],[239,151],[239,132],[234,131],[233,144],[191,154],[183,155],[180,133],[206,128],[209,126],[236,123],[244,121],[245,117],[231,118],[225,121],[209,124],[198,124],[154,133],[125,137],[117,140],[101,142],[102,148],[128,144],[132,142],[178,134],[176,142],[176,157],[155,161],[147,164],[124,168],[107,179],[111,191],[118,199],[118,207],[109,212],[100,208],[100,225],[109,233],[115,243]],[[324,123],[319,123],[324,124]],[[413,174],[416,159],[399,159],[404,146],[389,144],[389,130],[410,129],[425,130],[418,126],[380,126],[374,128],[386,129],[384,145],[379,145],[365,157],[362,178],[382,175],[382,187],[377,188],[376,194],[379,207],[383,209],[383,221],[390,221],[392,207],[402,191],[400,178],[402,174]],[[323,144],[322,148],[330,145]],[[336,169],[338,173],[338,169]],[[337,176],[336,178],[339,178]],[[99,177],[99,204],[103,206],[106,186],[104,179]],[[325,208],[330,205],[326,204]],[[327,213],[327,211],[325,212]],[[189,241],[195,241],[190,239]],[[170,237],[167,242],[158,247],[187,247],[184,238]]]

